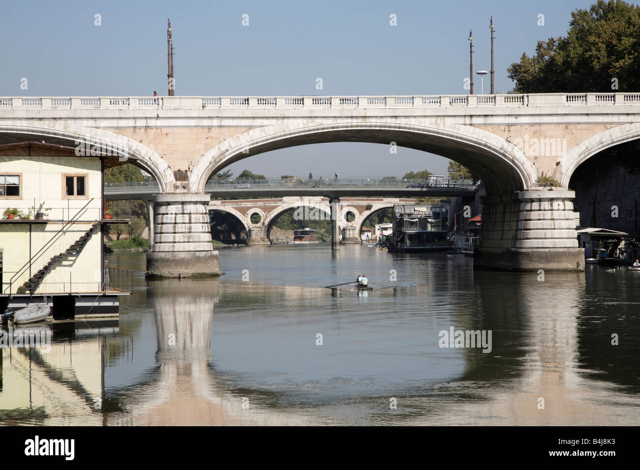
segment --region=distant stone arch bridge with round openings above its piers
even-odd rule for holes
[[[374,212],[394,207],[394,204],[413,204],[412,198],[342,198],[336,211],[338,229],[344,233],[343,243],[360,243],[360,231],[365,221]],[[317,209],[312,212],[304,208]],[[321,196],[285,196],[274,199],[252,199],[237,201],[211,201],[209,210],[222,210],[236,216],[248,235],[250,245],[269,244],[273,223],[280,215],[289,210],[300,209],[305,218],[322,217],[329,219],[332,214],[331,199]],[[318,214],[319,213],[319,214]],[[252,222],[253,214],[260,216],[260,221]],[[353,214],[353,220],[349,221]]]

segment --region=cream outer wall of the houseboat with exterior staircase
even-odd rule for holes
[[[64,253],[93,223],[102,218],[102,178],[100,160],[95,157],[0,156],[0,173],[21,173],[22,185],[20,199],[0,198],[0,214],[8,207],[18,208],[25,213],[31,208],[33,212],[34,205],[37,210],[41,201],[45,201],[45,208],[51,207],[45,215],[49,222],[31,224],[30,234],[28,223],[0,223],[0,248],[3,249],[2,293],[8,294],[10,279],[29,261],[29,239],[31,256],[34,256],[63,228],[70,217],[74,217],[87,205],[77,216],[77,223],[68,224],[51,244],[31,260],[31,272],[27,267],[13,279],[13,293],[38,269],[42,269],[52,256]],[[87,175],[84,198],[63,198],[63,175],[66,173]],[[36,293],[99,291],[102,278],[101,244],[99,227],[78,256],[63,258],[52,267]]]

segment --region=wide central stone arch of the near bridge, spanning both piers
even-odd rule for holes
[[[259,127],[230,137],[204,153],[189,177],[191,191],[204,192],[212,175],[236,161],[279,148],[328,142],[397,145],[436,153],[460,162],[483,178],[491,192],[534,186],[538,173],[522,150],[502,137],[477,127],[440,120],[398,121],[292,120]]]

